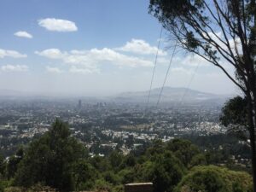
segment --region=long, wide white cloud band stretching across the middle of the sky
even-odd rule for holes
[[[72,65],[72,73],[98,73],[99,65],[112,64],[119,67],[152,67],[152,61],[130,55],[120,54],[119,52],[103,48],[90,50],[61,51],[60,49],[44,49],[36,51],[35,54],[49,59],[61,60]]]

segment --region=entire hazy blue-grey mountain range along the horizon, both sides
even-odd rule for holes
[[[150,103],[156,103],[160,96],[161,88],[151,90]],[[39,95],[32,92],[22,92],[18,90],[0,90],[0,99],[19,99],[19,98],[35,98],[35,99],[49,99],[55,96]],[[66,96],[67,98],[68,96]],[[76,98],[77,96],[71,96]],[[146,103],[148,101],[148,90],[123,92],[115,96],[81,96],[89,101],[112,101],[112,102],[140,102]],[[160,97],[160,103],[165,102],[225,102],[231,95],[217,95],[206,93],[199,90],[191,90],[183,87],[164,87]],[[55,98],[58,98],[56,96]]]

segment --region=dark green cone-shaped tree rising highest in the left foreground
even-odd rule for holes
[[[57,119],[43,137],[30,144],[20,162],[15,184],[30,187],[34,183],[44,183],[70,191],[74,189],[73,163],[83,156],[82,145],[71,137],[67,125]]]

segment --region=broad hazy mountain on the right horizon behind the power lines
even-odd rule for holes
[[[157,102],[161,88],[151,90],[149,102]],[[183,87],[164,87],[160,102],[224,102],[228,95],[217,95],[212,93],[191,90]],[[147,102],[148,90],[136,92],[124,92],[114,97],[117,102]]]

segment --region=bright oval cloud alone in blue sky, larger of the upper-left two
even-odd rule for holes
[[[43,26],[49,31],[55,32],[76,32],[78,27],[71,20],[60,20],[55,18],[46,18],[38,20],[38,25]]]

